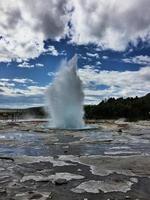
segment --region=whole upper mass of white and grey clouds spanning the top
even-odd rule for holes
[[[76,44],[125,50],[138,38],[149,41],[149,7],[149,0],[1,0],[0,62],[36,58],[45,40],[66,36]]]

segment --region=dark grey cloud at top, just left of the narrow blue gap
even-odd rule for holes
[[[23,2],[32,20],[35,20],[33,28],[36,32],[41,32],[45,38],[57,40],[64,36],[68,21],[66,0],[45,0],[44,2],[24,0]]]

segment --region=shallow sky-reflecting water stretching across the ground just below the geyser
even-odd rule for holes
[[[0,133],[0,155],[53,156],[65,154],[64,149],[77,155],[136,155],[149,153],[150,145],[142,137],[122,135],[96,129],[49,129],[39,132]],[[68,146],[65,146],[68,145]]]

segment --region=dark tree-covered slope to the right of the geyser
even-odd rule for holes
[[[117,119],[128,120],[150,119],[150,93],[144,97],[110,98],[98,105],[85,106],[86,119]]]

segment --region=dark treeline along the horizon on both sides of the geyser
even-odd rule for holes
[[[144,97],[110,98],[101,101],[98,105],[87,105],[85,109],[85,119],[118,119],[147,120],[150,119],[150,93]],[[47,109],[43,107],[33,107],[26,109],[0,109],[0,119],[37,118],[47,117]]]

